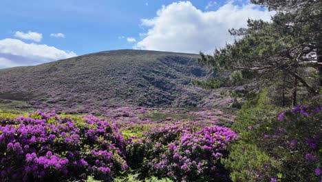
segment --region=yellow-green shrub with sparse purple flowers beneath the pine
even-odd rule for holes
[[[233,125],[241,139],[223,160],[231,179],[321,181],[321,99],[286,112],[264,104],[243,108]]]

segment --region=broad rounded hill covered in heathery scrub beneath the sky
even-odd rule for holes
[[[42,65],[0,70],[0,99],[18,108],[88,112],[113,106],[195,107],[213,77],[197,54],[111,50]]]

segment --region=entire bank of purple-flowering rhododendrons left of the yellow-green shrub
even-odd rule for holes
[[[111,114],[109,114],[111,115]],[[153,123],[136,114],[0,113],[1,181],[112,181],[132,170],[142,179],[225,179],[220,160],[237,139],[229,128],[197,121]],[[134,120],[140,122],[133,123]]]

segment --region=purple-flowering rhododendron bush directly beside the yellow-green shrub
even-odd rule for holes
[[[141,139],[129,139],[129,166],[138,169],[142,178],[226,181],[228,175],[220,160],[228,155],[227,145],[237,134],[219,126],[196,130],[195,125],[182,121],[151,126]],[[140,154],[143,156],[139,158]]]

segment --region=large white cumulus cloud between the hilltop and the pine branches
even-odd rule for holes
[[[211,53],[234,40],[228,29],[246,27],[248,18],[270,21],[272,14],[253,4],[237,6],[232,1],[208,12],[198,10],[190,1],[171,3],[162,6],[153,19],[142,19],[142,26],[149,30],[133,48]]]

